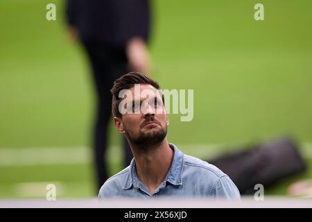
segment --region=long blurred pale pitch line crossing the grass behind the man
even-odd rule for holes
[[[188,144],[177,145],[188,155],[213,158],[225,153],[220,144]],[[304,143],[300,147],[303,157],[312,157],[312,143]],[[107,150],[110,162],[119,162],[122,158],[121,148],[111,146]],[[88,147],[50,147],[50,148],[0,148],[0,167],[32,166],[51,164],[87,164],[93,162],[92,148]]]

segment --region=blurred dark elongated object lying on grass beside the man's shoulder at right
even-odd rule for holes
[[[254,194],[254,185],[268,187],[306,170],[297,144],[289,137],[246,146],[207,162],[227,173],[243,195]]]

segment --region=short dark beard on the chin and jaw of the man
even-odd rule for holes
[[[147,151],[148,149],[152,149],[162,143],[167,135],[167,127],[165,126],[164,128],[162,127],[158,130],[150,131],[146,133],[141,132],[137,137],[135,137],[130,130],[125,128],[125,137],[127,137],[130,144],[134,144],[142,151]]]

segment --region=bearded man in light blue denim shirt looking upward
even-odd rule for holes
[[[116,197],[240,198],[234,182],[217,167],[182,153],[166,139],[164,96],[148,76],[130,72],[114,82],[114,126],[128,139],[130,166],[101,187],[98,199]],[[146,93],[148,92],[148,93]]]

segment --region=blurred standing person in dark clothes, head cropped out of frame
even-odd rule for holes
[[[110,89],[116,78],[128,71],[150,71],[147,42],[150,33],[148,0],[67,0],[69,35],[79,40],[89,57],[97,108],[94,123],[94,159],[98,189],[108,178],[106,150],[112,113]],[[124,162],[132,160],[123,139]]]

